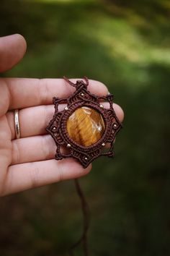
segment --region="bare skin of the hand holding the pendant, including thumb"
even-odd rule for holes
[[[14,67],[26,48],[22,35],[0,38],[0,72]],[[45,132],[53,117],[53,96],[66,98],[74,90],[63,79],[0,78],[0,196],[89,173],[91,165],[84,169],[73,158],[55,161],[55,142]],[[108,93],[107,87],[95,80],[89,80],[89,90],[96,95]],[[16,108],[21,129],[19,140],[12,112]],[[122,108],[115,103],[114,108],[122,121]]]

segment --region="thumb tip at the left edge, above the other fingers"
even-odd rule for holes
[[[0,38],[0,72],[11,69],[24,56],[27,43],[22,35],[14,34]]]

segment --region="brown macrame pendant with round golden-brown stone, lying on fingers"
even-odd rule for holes
[[[86,77],[76,84],[63,78],[76,91],[69,98],[53,98],[55,113],[46,130],[57,146],[55,159],[73,157],[86,168],[99,155],[113,157],[115,136],[122,127],[112,106],[113,95],[91,94]],[[104,108],[104,101],[109,108]],[[58,105],[62,103],[66,107],[59,111]]]

